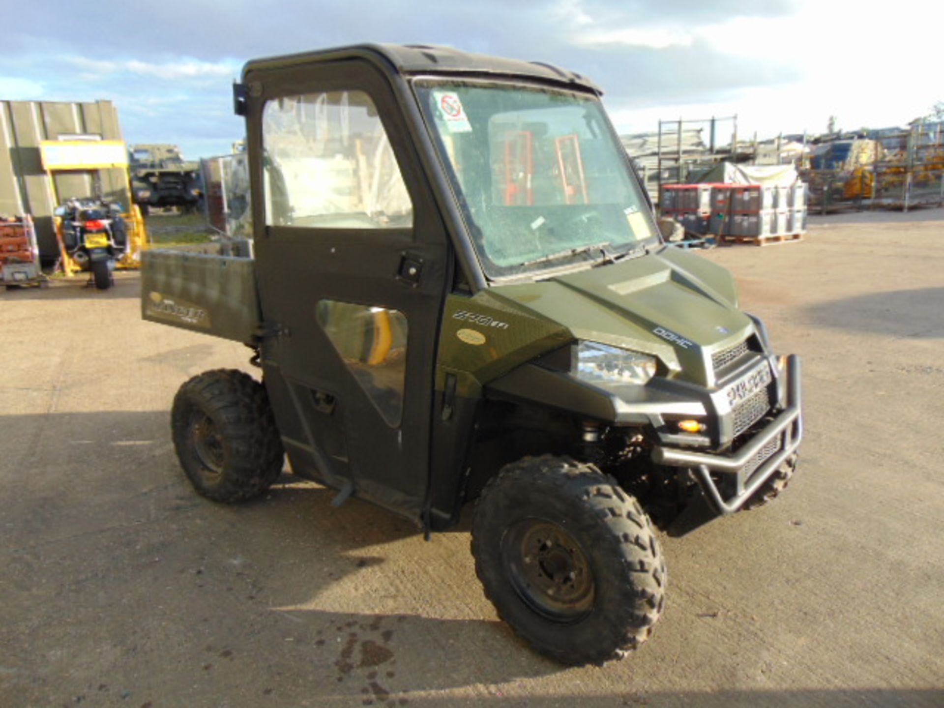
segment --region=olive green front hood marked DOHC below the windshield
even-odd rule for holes
[[[711,385],[711,354],[744,340],[753,323],[737,309],[731,274],[674,247],[520,285],[507,298],[569,330],[575,339],[641,351],[666,374]]]

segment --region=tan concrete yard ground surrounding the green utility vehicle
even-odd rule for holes
[[[0,295],[0,705],[944,705],[944,211],[812,221],[707,254],[803,357],[801,471],[663,538],[666,613],[603,668],[499,623],[465,531],[194,495],[171,399],[248,351],[143,323],[136,275]]]

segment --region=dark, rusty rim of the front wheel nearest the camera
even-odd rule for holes
[[[516,522],[501,539],[501,560],[518,596],[538,615],[570,624],[593,611],[593,570],[577,540],[547,519]]]

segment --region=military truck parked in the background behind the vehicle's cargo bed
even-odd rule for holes
[[[131,194],[146,216],[151,207],[193,211],[200,201],[200,165],[184,161],[177,145],[135,144],[128,148]]]

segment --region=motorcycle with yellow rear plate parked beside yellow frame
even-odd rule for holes
[[[110,288],[111,271],[127,248],[121,205],[102,199],[69,199],[55,213],[62,220],[66,254],[80,270],[91,274],[96,288]]]

